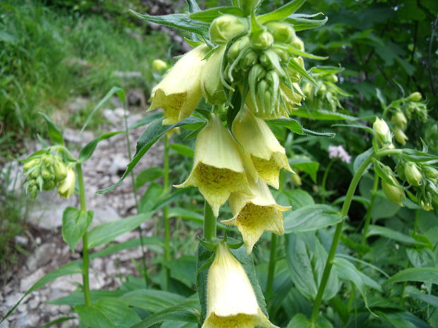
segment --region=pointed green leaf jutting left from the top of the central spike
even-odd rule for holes
[[[208,24],[200,22],[198,20],[193,20],[185,13],[172,13],[170,15],[163,16],[150,16],[142,15],[136,11],[130,10],[130,12],[143,20],[148,22],[157,23],[160,25],[169,26],[170,28],[177,28],[179,30],[184,30],[187,32],[193,32],[201,35],[208,34]]]

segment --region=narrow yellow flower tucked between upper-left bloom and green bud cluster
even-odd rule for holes
[[[225,46],[220,46],[206,61],[201,72],[201,90],[210,104],[223,104],[227,99],[220,80]]]

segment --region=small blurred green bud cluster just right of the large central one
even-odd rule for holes
[[[336,111],[342,109],[339,98],[348,97],[349,94],[342,90],[336,83],[336,74],[314,73],[312,77],[316,85],[306,82],[302,87],[302,92],[306,97],[306,106],[312,109],[329,109]]]

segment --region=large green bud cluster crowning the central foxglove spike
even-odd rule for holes
[[[251,31],[248,18],[223,15],[213,20],[210,37],[227,49],[221,72],[225,87],[242,92],[247,86],[247,106],[256,116],[288,116],[300,104],[301,75],[290,62],[304,69],[302,57],[291,51],[304,51],[304,44],[292,25],[270,22]]]

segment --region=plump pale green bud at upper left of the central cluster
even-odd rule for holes
[[[210,25],[210,40],[215,44],[227,44],[246,30],[248,30],[248,20],[233,15],[219,16]]]

